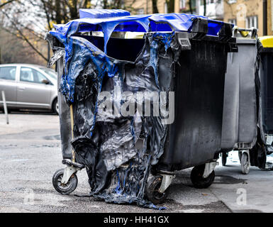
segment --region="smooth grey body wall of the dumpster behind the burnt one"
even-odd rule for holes
[[[255,143],[257,136],[257,106],[255,91],[254,43],[238,44],[238,52],[228,53],[228,70],[225,74],[225,98],[221,148],[233,150],[238,143]]]

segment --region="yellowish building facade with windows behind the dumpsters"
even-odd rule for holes
[[[206,15],[204,15],[204,1],[206,1]],[[152,13],[152,0],[126,0],[125,4],[130,6],[133,14]],[[266,20],[263,17],[264,8],[267,9]],[[159,13],[172,13],[168,12],[166,0],[157,0],[157,9]],[[272,12],[273,0],[174,0],[174,13],[208,16],[211,19],[234,23],[240,28],[255,27],[258,29],[258,35],[273,34]],[[266,33],[264,33],[265,28]]]

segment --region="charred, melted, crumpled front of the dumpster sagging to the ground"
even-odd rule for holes
[[[145,182],[151,166],[157,164],[164,151],[166,116],[162,116],[158,106],[169,108],[168,92],[172,90],[173,67],[180,45],[172,32],[146,33],[145,44],[135,62],[121,61],[108,57],[86,38],[73,35],[76,31],[77,27],[72,26],[66,35],[52,33],[47,38],[51,44],[57,38],[65,45],[60,92],[67,104],[73,106],[72,146],[76,162],[87,169],[91,196],[107,202],[160,209],[145,199]],[[55,60],[59,59],[62,48],[54,45],[52,48]],[[168,59],[169,67],[159,70],[160,59]],[[157,111],[148,115],[147,100],[132,101],[130,95],[123,99],[126,92],[158,94],[160,99],[150,99],[150,109]],[[110,112],[105,111],[109,103]],[[124,105],[128,106],[125,110]],[[130,114],[126,116],[124,111]]]

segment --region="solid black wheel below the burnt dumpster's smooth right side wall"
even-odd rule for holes
[[[206,189],[210,187],[214,181],[215,172],[211,172],[208,177],[204,178],[205,165],[198,165],[191,170],[191,182],[197,189]]]

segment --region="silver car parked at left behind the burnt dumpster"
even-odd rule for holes
[[[46,109],[59,114],[57,103],[57,74],[40,65],[0,65],[1,91],[5,92],[8,109]]]

